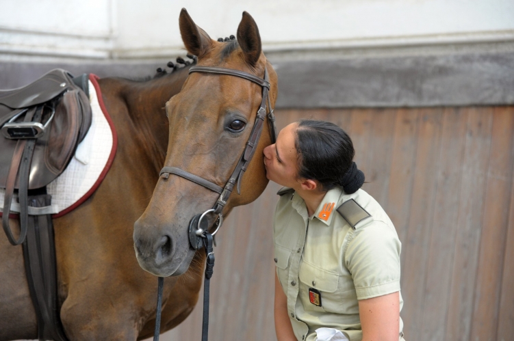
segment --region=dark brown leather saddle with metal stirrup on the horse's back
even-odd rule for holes
[[[73,78],[55,69],[25,87],[0,90],[0,188],[5,189],[2,223],[10,243],[23,242],[27,191],[40,189],[64,172],[91,125],[86,75]],[[8,223],[12,195],[18,189],[21,234]]]

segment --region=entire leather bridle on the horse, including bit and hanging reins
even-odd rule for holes
[[[222,188],[216,185],[214,182],[209,180],[205,180],[201,176],[197,176],[191,174],[190,172],[186,172],[183,169],[177,167],[163,167],[159,176],[163,178],[168,178],[170,174],[175,174],[177,176],[181,176],[182,178],[188,179],[197,185],[201,185],[211,191],[218,193],[220,196],[216,203],[212,208],[206,210],[201,215],[195,215],[189,227],[189,237],[191,247],[195,250],[201,249],[202,246],[205,247],[205,253],[207,254],[207,265],[205,267],[205,282],[204,282],[204,290],[203,290],[203,327],[202,327],[202,341],[207,341],[208,337],[208,326],[209,326],[209,279],[212,276],[214,269],[214,251],[213,251],[213,241],[214,235],[218,232],[220,226],[223,223],[223,215],[222,211],[224,206],[227,204],[229,197],[233,191],[234,186],[237,188],[237,193],[241,193],[241,181],[246,171],[248,164],[252,160],[253,154],[255,154],[255,150],[257,145],[259,144],[259,139],[261,137],[262,129],[264,128],[264,120],[268,117],[268,124],[270,127],[270,135],[272,144],[277,140],[277,127],[275,126],[275,116],[273,113],[273,109],[271,107],[270,100],[270,79],[268,74],[268,68],[264,68],[264,79],[254,76],[253,74],[249,74],[248,72],[233,70],[229,68],[216,68],[214,66],[192,66],[189,69],[189,74],[192,72],[207,72],[214,74],[228,74],[230,76],[240,77],[243,79],[247,79],[248,81],[252,81],[262,87],[262,100],[259,109],[257,110],[257,117],[255,118],[255,124],[253,124],[252,131],[250,133],[250,137],[246,142],[246,147],[235,165],[235,168],[227,180],[227,183]],[[268,112],[266,112],[266,106],[268,107]],[[205,215],[213,213],[214,215],[218,215],[218,219],[214,223],[215,230],[210,233],[207,227],[207,221],[203,218]],[[160,329],[160,317],[161,317],[161,303],[162,303],[162,287],[163,287],[164,279],[163,277],[159,277],[159,283],[157,287],[158,295],[157,295],[157,316],[155,318],[155,333],[153,336],[153,340],[159,340],[159,329]]]

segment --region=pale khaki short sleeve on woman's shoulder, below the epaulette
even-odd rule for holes
[[[400,252],[396,230],[383,221],[353,232],[343,261],[352,274],[357,299],[400,291]]]

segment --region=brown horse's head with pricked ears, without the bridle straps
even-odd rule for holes
[[[261,51],[259,29],[250,14],[243,13],[237,40],[234,37],[212,40],[185,9],[181,11],[179,24],[186,49],[197,57],[194,68],[198,72],[190,69],[181,92],[166,103],[170,130],[165,167],[133,232],[140,266],[162,277],[181,275],[190,266],[196,252],[190,243],[194,217],[198,220],[199,214],[213,207],[217,207],[214,213],[226,216],[233,207],[255,200],[266,188],[262,150],[272,143],[274,133],[268,124],[262,126],[258,144],[250,146],[255,157],[244,165],[246,172],[237,171],[237,179],[233,181],[236,183],[227,185],[227,180],[233,178],[234,169],[240,167],[240,160],[248,153],[255,137],[254,126],[262,124],[256,119],[264,102],[264,91],[258,81],[265,77],[265,72],[270,84],[268,110],[274,107],[277,98],[277,74]],[[202,67],[241,72],[239,75],[202,72]],[[241,74],[255,78],[251,81]],[[226,204],[216,206],[220,193],[198,185],[195,176],[218,189],[233,186],[234,193],[228,196]],[[206,226],[212,226],[217,217],[211,212],[202,223],[207,221]]]

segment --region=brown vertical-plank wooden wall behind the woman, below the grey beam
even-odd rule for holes
[[[363,186],[402,241],[402,318],[413,340],[514,340],[514,107],[281,109],[352,137]],[[209,340],[276,340],[272,213],[279,186],[218,235]],[[202,292],[201,292],[202,295]],[[201,299],[161,340],[200,340]]]

